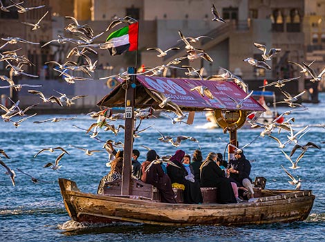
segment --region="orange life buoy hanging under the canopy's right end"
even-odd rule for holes
[[[228,130],[240,129],[245,124],[247,111],[234,111],[239,113],[239,118],[236,121],[226,120],[223,116],[223,111],[220,109],[214,111],[214,118],[216,119],[216,123],[222,128],[227,128]]]

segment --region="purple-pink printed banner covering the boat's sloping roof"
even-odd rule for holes
[[[165,97],[169,97],[172,102],[175,102],[180,107],[237,110],[238,103],[248,95],[234,82],[140,75],[137,76],[137,79],[147,89],[163,93]],[[207,95],[201,95],[199,91],[191,91],[196,86],[206,87],[212,93],[212,98],[207,97]],[[245,111],[265,111],[263,106],[252,97],[245,100],[239,109]]]

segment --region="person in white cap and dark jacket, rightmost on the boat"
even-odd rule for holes
[[[250,165],[249,160],[245,158],[245,155],[241,149],[237,149],[234,154],[234,158],[228,163],[228,170],[230,172],[230,179],[239,187],[245,187],[248,189],[248,198],[254,197],[254,190],[252,186],[252,179],[250,178]]]

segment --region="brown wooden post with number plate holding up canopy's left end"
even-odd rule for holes
[[[127,68],[127,73],[136,73],[133,67]],[[122,195],[130,194],[131,180],[131,157],[133,150],[133,127],[134,127],[134,105],[136,93],[136,75],[132,75],[130,80],[124,84],[125,95],[125,132],[124,132],[124,157],[122,171]]]

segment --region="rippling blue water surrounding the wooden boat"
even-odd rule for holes
[[[192,227],[160,227],[139,225],[132,223],[116,223],[113,225],[89,225],[71,221],[62,196],[59,192],[57,178],[69,178],[77,182],[84,192],[96,192],[100,178],[106,174],[105,166],[107,155],[95,153],[86,156],[83,151],[69,147],[68,144],[87,149],[101,149],[102,144],[80,129],[72,125],[87,128],[94,122],[86,115],[77,115],[74,120],[62,122],[32,123],[35,120],[53,118],[54,115],[37,115],[15,129],[11,123],[0,122],[0,149],[4,149],[10,160],[1,158],[11,168],[15,169],[16,186],[13,187],[10,178],[0,167],[0,238],[6,241],[278,241],[280,238],[288,241],[324,241],[325,225],[325,179],[324,179],[324,152],[325,129],[325,93],[321,93],[319,104],[305,104],[308,111],[296,112],[295,130],[310,124],[310,131],[304,135],[300,144],[313,141],[322,147],[322,150],[308,149],[304,158],[299,161],[301,168],[293,171],[294,176],[303,179],[302,189],[312,189],[316,199],[310,216],[304,222],[272,225],[248,225],[243,227],[223,226],[192,226]],[[288,110],[279,108],[279,113]],[[74,115],[57,115],[57,117],[74,117]],[[287,117],[286,117],[287,118]],[[223,134],[221,129],[203,129],[205,115],[196,113],[194,124],[189,127],[185,124],[173,125],[165,118],[156,118],[142,122],[142,128],[153,125],[165,135],[193,136],[200,141],[203,154],[210,151],[223,153],[225,143],[218,138],[228,140],[228,133]],[[323,127],[322,127],[323,126]],[[259,134],[259,129],[241,129],[238,133],[239,144],[245,145]],[[281,140],[286,133],[275,134]],[[140,145],[156,149],[160,155],[174,153],[176,147],[161,143],[157,140],[160,135],[154,129],[148,129],[140,134],[134,147],[140,150],[140,161],[145,160],[146,150]],[[113,133],[100,131],[102,140],[123,140],[124,133],[114,136]],[[70,156],[65,155],[60,164],[62,168],[54,171],[43,168],[47,162],[54,162],[59,155],[55,153],[35,153],[46,147],[62,146],[68,150]],[[180,145],[187,153],[193,153],[198,145],[195,142],[184,141]],[[293,144],[284,148],[290,153]],[[277,143],[268,137],[259,138],[245,148],[245,155],[252,162],[251,177],[264,176],[267,178],[266,188],[293,189],[288,183],[288,176],[280,165],[289,167]],[[293,160],[297,158],[294,155]],[[50,183],[34,184],[28,176],[19,173],[17,168],[36,178]]]

